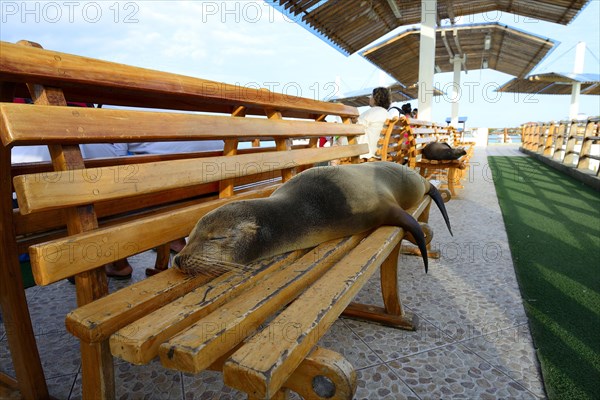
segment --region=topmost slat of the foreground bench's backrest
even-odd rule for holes
[[[358,116],[356,107],[0,42],[0,81],[64,88],[71,101],[210,110],[214,105]],[[99,101],[100,98],[104,101]]]

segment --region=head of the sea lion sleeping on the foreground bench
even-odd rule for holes
[[[258,258],[259,223],[249,201],[221,206],[200,218],[173,264],[197,274],[242,267]]]

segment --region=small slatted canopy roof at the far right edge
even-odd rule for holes
[[[497,92],[563,94],[570,95],[573,83],[581,83],[581,94],[600,95],[600,74],[556,73],[534,74],[527,78],[514,78]]]

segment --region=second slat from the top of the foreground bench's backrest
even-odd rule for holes
[[[360,135],[360,125],[105,108],[0,105],[4,145]],[[173,132],[177,132],[173,135]]]

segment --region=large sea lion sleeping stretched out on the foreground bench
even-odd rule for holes
[[[281,185],[271,196],[223,205],[198,221],[174,265],[186,273],[213,264],[246,265],[382,225],[404,228],[416,241],[427,272],[426,239],[406,209],[425,194],[444,201],[429,181],[392,162],[315,167]]]

